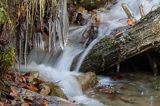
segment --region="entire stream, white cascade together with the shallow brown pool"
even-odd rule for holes
[[[64,0],[65,1],[65,0]],[[65,4],[66,2],[64,2]],[[147,14],[154,6],[159,5],[159,0],[119,0],[115,5],[107,11],[97,11],[100,18],[100,25],[98,28],[97,38],[94,39],[86,48],[86,39],[83,34],[90,29],[91,22],[89,21],[84,26],[70,26],[67,27],[67,13],[66,4],[63,7],[63,18],[61,19],[64,25],[60,30],[60,23],[50,23],[50,27],[58,28],[57,31],[59,41],[55,44],[51,43],[51,38],[55,41],[52,35],[52,28],[50,29],[49,53],[40,50],[39,48],[33,50],[27,58],[27,65],[20,65],[17,68],[20,71],[38,71],[40,76],[47,81],[59,82],[58,85],[71,101],[76,101],[79,105],[85,106],[158,106],[158,91],[153,91],[147,88],[147,82],[152,81],[148,78],[143,80],[140,75],[132,74],[132,77],[140,77],[135,80],[129,79],[128,75],[124,75],[123,80],[113,80],[111,77],[98,76],[98,85],[95,89],[82,91],[80,84],[75,76],[80,73],[80,67],[86,55],[92,47],[99,42],[103,37],[109,35],[114,29],[127,25],[127,16],[124,13],[121,4],[126,3],[130,7],[133,16],[136,20],[141,18],[139,13],[139,5],[144,6],[144,12]],[[66,17],[66,18],[65,18]],[[55,30],[55,29],[54,29]],[[67,32],[66,32],[67,30]],[[61,33],[60,33],[61,32]],[[67,35],[65,35],[67,34]],[[43,45],[44,42],[39,42]],[[52,46],[53,45],[53,46]],[[52,48],[54,48],[52,53]],[[41,47],[42,48],[42,47]],[[44,49],[44,47],[43,47]],[[78,61],[73,69],[70,71],[74,59],[78,56]],[[145,75],[141,75],[146,77]],[[128,79],[127,79],[128,78]],[[110,91],[108,91],[110,90]]]

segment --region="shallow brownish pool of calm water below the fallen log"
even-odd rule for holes
[[[150,73],[98,76],[98,85],[86,92],[106,106],[160,106],[160,79]]]

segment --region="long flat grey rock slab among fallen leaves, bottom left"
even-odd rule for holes
[[[19,87],[12,87],[14,90],[16,90],[17,94],[13,95],[13,97],[21,96],[21,98],[18,98],[17,101],[14,101],[14,104],[17,104],[18,101],[22,101],[22,98],[25,98],[23,101],[23,106],[25,106],[25,100],[28,100],[32,103],[32,105],[38,105],[41,106],[42,104],[46,104],[49,106],[76,106],[75,103],[65,100],[60,97],[56,96],[43,96],[39,93],[24,89],[24,88],[19,88]],[[27,101],[27,102],[28,102]],[[45,105],[45,106],[46,106]],[[43,105],[44,106],[44,105]]]

